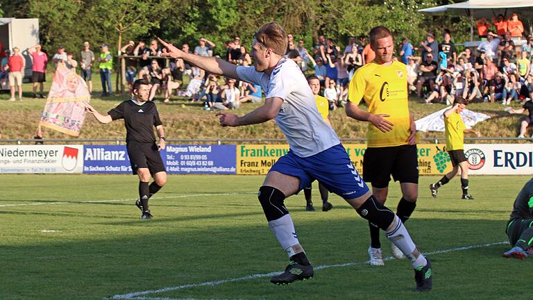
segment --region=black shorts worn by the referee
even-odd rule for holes
[[[164,164],[157,144],[128,142],[126,148],[134,175],[137,174],[139,168],[148,168],[152,176],[155,173],[164,172]]]

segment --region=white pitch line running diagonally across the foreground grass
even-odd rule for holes
[[[454,247],[454,248],[450,248],[450,249],[443,249],[443,250],[437,250],[437,251],[432,251],[432,252],[426,252],[426,253],[423,253],[423,254],[426,255],[426,256],[430,256],[430,255],[435,255],[435,254],[450,253],[450,252],[454,252],[454,251],[465,251],[465,250],[470,250],[470,249],[484,248],[484,247],[490,247],[490,246],[494,246],[494,245],[498,245],[498,244],[507,244],[507,243],[508,242],[505,241],[505,242],[493,242],[493,243],[490,243],[490,244],[478,244],[478,245],[471,245],[471,246],[464,246],[464,247]],[[387,258],[384,258],[383,260],[392,260],[392,259],[393,259],[393,257],[389,256]],[[355,263],[342,263],[342,264],[335,264],[335,265],[321,265],[321,266],[318,266],[318,267],[314,267],[314,269],[315,270],[319,270],[319,269],[328,269],[328,268],[332,268],[332,267],[348,267],[348,266],[353,266],[353,265],[365,265],[367,263],[369,263],[369,261],[355,262]],[[180,299],[175,299],[175,298],[151,298],[151,297],[143,297],[143,296],[149,295],[149,294],[158,294],[158,293],[162,293],[162,292],[171,292],[171,291],[174,291],[174,290],[183,290],[183,289],[186,289],[186,288],[198,288],[198,287],[206,286],[206,285],[214,286],[214,285],[221,285],[221,284],[224,284],[224,283],[232,283],[232,282],[235,282],[235,281],[245,281],[245,280],[248,280],[248,279],[264,278],[264,277],[270,277],[270,276],[277,275],[277,274],[280,274],[280,272],[253,274],[253,275],[243,276],[243,277],[239,277],[239,278],[221,279],[221,280],[218,280],[218,281],[208,281],[208,282],[203,282],[203,283],[189,283],[189,284],[178,285],[178,286],[174,286],[174,287],[161,288],[159,290],[146,290],[144,292],[131,292],[131,293],[128,293],[128,294],[117,294],[115,296],[112,296],[110,299],[180,300]]]

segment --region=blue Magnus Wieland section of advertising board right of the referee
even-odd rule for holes
[[[169,174],[236,174],[235,145],[167,145]]]

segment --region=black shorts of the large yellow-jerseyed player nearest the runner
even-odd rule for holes
[[[374,188],[387,188],[391,175],[400,183],[418,184],[416,145],[367,148],[363,156],[363,179]]]

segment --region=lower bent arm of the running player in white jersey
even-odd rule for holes
[[[219,112],[217,116],[220,117],[220,125],[225,126],[244,126],[251,124],[260,124],[275,118],[280,112],[283,99],[278,97],[271,97],[264,100],[264,105],[257,108],[246,115],[239,117],[238,115],[226,112]]]

